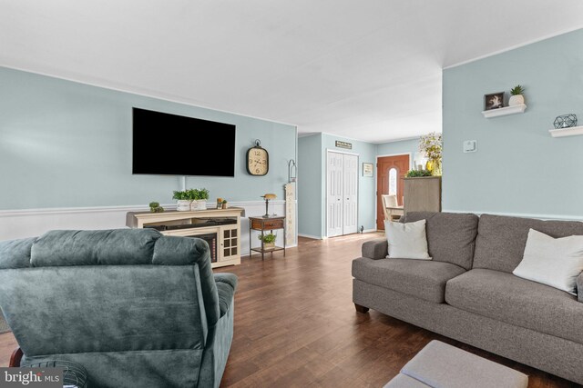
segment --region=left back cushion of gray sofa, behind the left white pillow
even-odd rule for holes
[[[472,268],[479,220],[476,214],[410,212],[404,217],[405,223],[419,220],[427,222],[427,245],[434,261]]]

